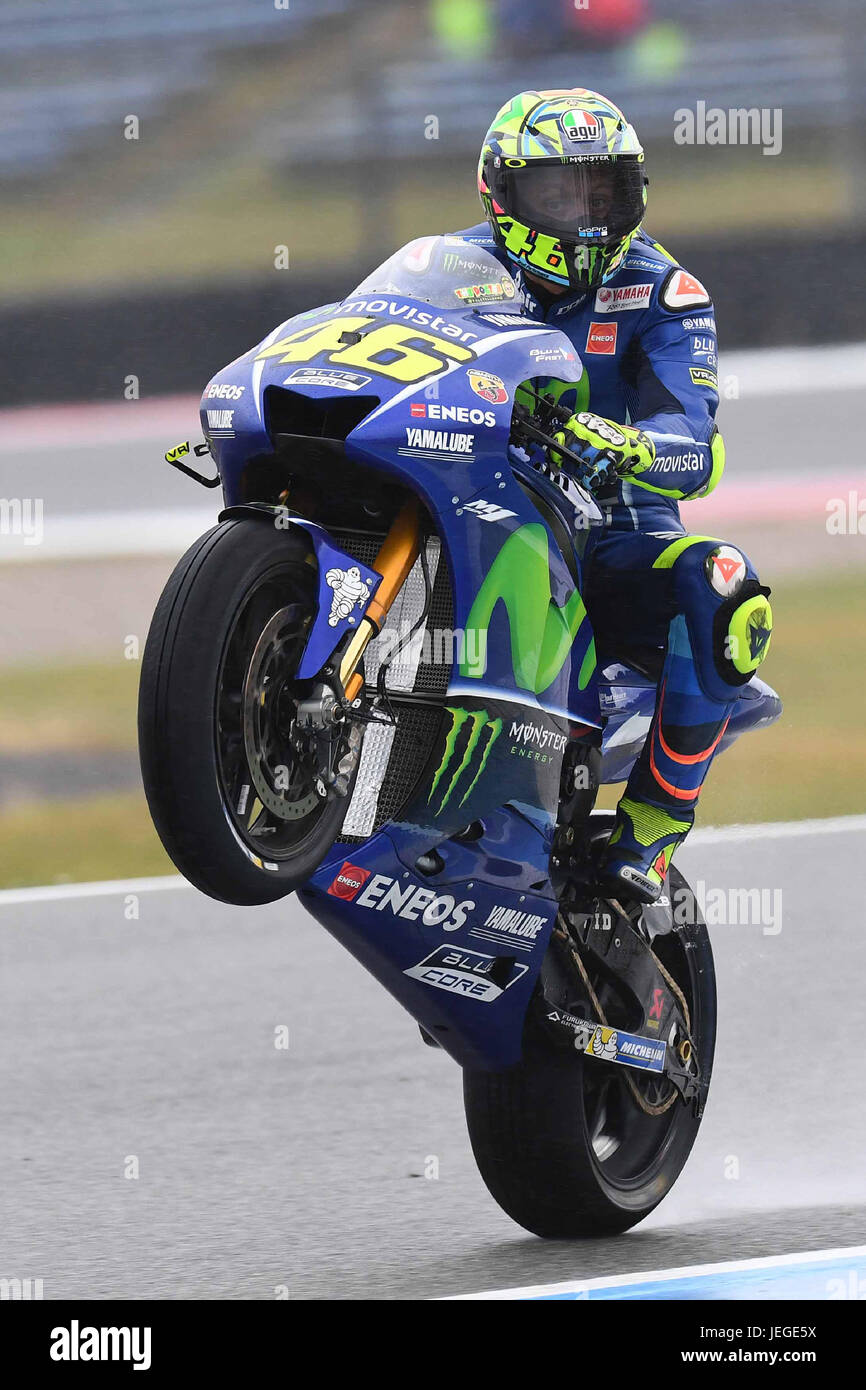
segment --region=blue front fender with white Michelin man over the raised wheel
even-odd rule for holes
[[[318,571],[317,612],[296,673],[299,680],[309,680],[332,656],[346,632],[357,628],[382,575],[334,545],[324,527],[306,517],[289,516],[285,507],[245,502],[220,513],[220,521],[238,517],[252,517],[277,530],[303,531],[310,539]]]

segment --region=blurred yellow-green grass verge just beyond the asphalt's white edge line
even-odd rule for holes
[[[773,592],[776,632],[762,674],[785,710],[713,766],[701,824],[798,820],[866,809],[866,648],[852,628],[866,573],[784,581]],[[7,671],[0,677],[4,749],[135,746],[138,663]],[[621,788],[605,788],[613,805]],[[28,802],[0,813],[0,885],[171,873],[135,792]],[[46,847],[50,845],[50,851]]]

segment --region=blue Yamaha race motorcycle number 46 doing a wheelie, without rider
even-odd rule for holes
[[[517,293],[488,252],[424,238],[213,378],[206,443],[167,459],[225,509],[156,609],[140,758],[192,884],[297,892],[463,1068],[500,1207],[603,1236],[695,1141],[713,956],[676,869],[642,909],[591,887],[598,788],[628,776],[663,653],[595,649],[602,514],[575,455],[545,461],[559,418],[532,388],[585,378]],[[752,678],[721,746],[780,708]]]

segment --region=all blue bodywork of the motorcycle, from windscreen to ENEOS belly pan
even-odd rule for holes
[[[443,713],[452,744],[430,749],[399,820],[334,845],[302,891],[309,910],[461,1065],[496,1068],[521,1055],[527,1004],[556,917],[549,856],[566,742],[594,730],[601,738],[609,720],[606,769],[619,759],[624,777],[635,749],[628,741],[620,756],[616,737],[651,709],[653,687],[639,677],[634,689],[609,678],[599,685],[578,598],[580,537],[601,520],[598,509],[509,452],[517,386],[552,374],[580,381],[573,343],[514,313],[516,291],[484,249],[466,256],[455,239],[434,240],[411,243],[396,270],[386,263],[378,281],[288,320],[231,363],[204,392],[202,423],[225,503],[235,507],[257,500],[246,492],[246,470],[274,452],[275,393],[352,402],[357,423],[341,450],[357,463],[359,498],[368,468],[421,498],[442,543],[456,631],[478,621],[485,581],[503,546],[514,552],[517,532],[527,562],[517,578],[528,592],[545,577],[541,609],[523,607],[524,592],[509,599],[493,591],[485,646],[453,662]],[[434,261],[457,263],[453,275],[442,270],[431,284]],[[416,274],[418,289],[409,295]],[[455,300],[460,295],[474,307]],[[300,670],[314,676],[360,621],[379,575],[321,527],[289,524],[306,531],[318,563],[318,613]],[[335,610],[327,574],[352,566],[353,592],[367,595]],[[532,627],[538,612],[545,621]],[[744,717],[755,721],[749,691]],[[470,823],[468,841],[452,838]]]

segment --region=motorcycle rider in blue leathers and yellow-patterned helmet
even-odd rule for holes
[[[771,631],[770,591],[746,556],[680,521],[677,503],[706,496],[724,468],[713,304],[644,231],[644,150],[598,92],[507,101],[478,188],[489,228],[459,235],[507,264],[524,311],[562,329],[584,364],[580,382],[541,389],[571,411],[556,441],[581,456],[591,485],[598,475],[605,527],[589,535],[584,598],[599,644],[664,648],[652,726],[599,866],[607,891],[652,902]],[[617,481],[603,485],[612,461]]]

